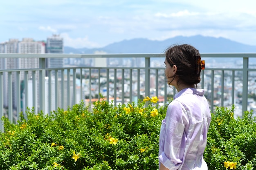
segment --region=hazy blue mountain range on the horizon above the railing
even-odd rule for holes
[[[71,48],[64,47],[64,53],[93,54],[96,51],[115,53],[163,53],[173,44],[190,44],[199,52],[256,52],[256,46],[250,46],[225,38],[204,37],[196,35],[191,37],[177,36],[163,41],[136,38],[109,44],[103,48]]]

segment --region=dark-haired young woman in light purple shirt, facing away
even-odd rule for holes
[[[204,89],[197,89],[204,61],[190,45],[166,50],[165,75],[178,93],[168,105],[159,136],[159,170],[207,170],[203,159],[211,112]]]

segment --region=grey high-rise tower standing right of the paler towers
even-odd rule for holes
[[[62,54],[64,52],[63,48],[63,38],[59,35],[52,35],[52,37],[47,38],[46,42],[46,53]],[[63,58],[50,58],[46,61],[47,68],[62,68]],[[54,74],[54,72],[52,72]],[[47,73],[48,74],[48,73]],[[58,72],[58,77],[61,77],[61,72]]]

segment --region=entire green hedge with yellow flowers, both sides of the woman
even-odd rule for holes
[[[159,130],[166,106],[155,102],[157,98],[145,98],[136,105],[116,107],[100,100],[92,111],[81,102],[50,116],[28,109],[27,119],[21,113],[18,124],[2,118],[0,169],[157,170]],[[215,112],[204,154],[209,170],[224,170],[224,165],[254,169],[256,123],[252,113],[234,119],[234,107],[219,107]]]

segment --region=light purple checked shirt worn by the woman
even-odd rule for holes
[[[159,165],[170,170],[207,170],[203,159],[211,112],[204,89],[186,88],[168,105],[159,136]]]

